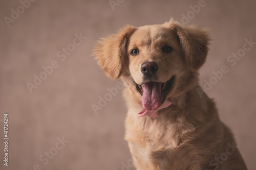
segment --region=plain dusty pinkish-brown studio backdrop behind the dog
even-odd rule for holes
[[[0,1],[0,140],[6,112],[10,138],[8,167],[0,144],[0,169],[134,169],[123,140],[121,90],[97,114],[92,109],[107,88],[120,82],[104,75],[91,57],[92,48],[98,38],[126,24],[161,24],[172,16],[211,29],[200,84],[215,98],[248,168],[256,169],[256,44],[241,50],[245,39],[256,41],[255,1],[205,0],[196,12],[190,6],[200,1],[113,1],[113,8],[109,1]],[[244,57],[227,61],[238,52]],[[229,71],[220,80],[213,78],[212,71],[223,65]],[[36,85],[34,75],[45,80]],[[215,84],[205,85],[210,80]],[[32,92],[27,83],[33,84]]]

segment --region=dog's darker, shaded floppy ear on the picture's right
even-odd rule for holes
[[[181,26],[177,22],[173,22],[172,19],[170,27],[174,27],[177,31],[189,69],[197,71],[206,60],[209,50],[209,31],[198,29],[195,26]]]

